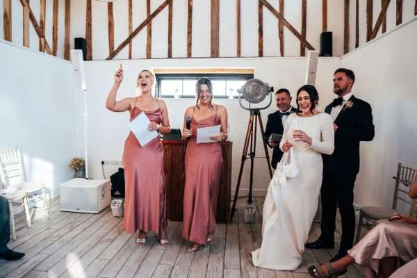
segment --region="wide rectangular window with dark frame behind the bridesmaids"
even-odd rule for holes
[[[163,72],[163,71],[162,71]],[[174,98],[195,98],[195,83],[206,77],[213,84],[213,97],[220,99],[238,98],[238,89],[254,74],[233,73],[158,73],[156,71],[156,96]]]

